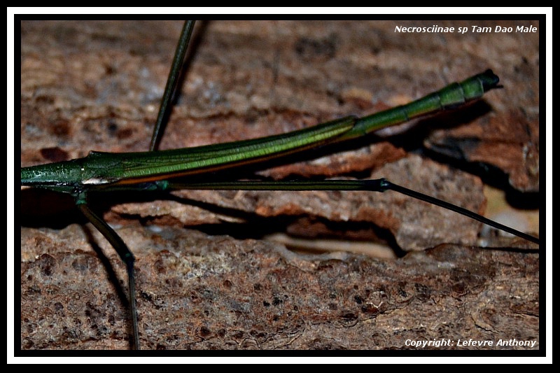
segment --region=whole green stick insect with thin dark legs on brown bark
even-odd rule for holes
[[[246,27],[246,24],[242,24],[242,27]],[[183,34],[181,35],[181,40],[183,42],[179,43],[180,46],[183,46],[183,52],[186,50],[186,43],[190,38],[192,29],[192,23],[186,24],[186,27],[183,29]],[[59,29],[59,32],[64,34],[64,29]],[[281,37],[279,37],[279,40],[281,40]],[[336,43],[336,36],[330,36],[330,39],[327,38],[321,42],[302,38],[295,45],[295,50],[299,51],[299,54],[304,59],[325,59],[330,58],[328,56],[335,53],[332,48],[335,48],[333,45],[336,45]],[[180,50],[181,47],[178,48],[178,51],[176,52],[176,59],[174,60],[172,73],[170,73],[170,79],[176,78],[180,71],[180,66],[183,61],[183,52]],[[281,67],[281,61],[279,61],[277,56],[273,56],[270,61],[272,61],[271,66],[269,66],[272,81],[277,82],[281,80],[284,73]],[[111,56],[107,57],[106,65],[103,66],[103,68],[106,69],[106,72],[109,75],[111,75],[112,70],[114,69]],[[235,71],[232,71],[232,73],[235,74]],[[242,78],[244,77],[239,77],[239,79]],[[407,122],[414,118],[432,114],[437,111],[456,108],[470,101],[480,99],[484,92],[488,92],[493,90],[493,88],[498,87],[498,80],[498,77],[492,71],[487,70],[475,76],[471,76],[470,78],[466,78],[459,83],[451,83],[432,94],[428,94],[421,99],[412,101],[410,104],[398,106],[396,108],[381,111],[380,113],[372,115],[363,115],[359,118],[353,115],[344,116],[341,119],[326,121],[321,125],[305,127],[303,129],[283,134],[271,134],[269,136],[262,136],[251,140],[223,142],[210,146],[194,146],[189,148],[154,151],[156,144],[158,143],[160,123],[163,122],[166,117],[165,113],[160,111],[160,115],[158,116],[158,125],[156,125],[153,139],[151,141],[152,151],[119,153],[92,152],[86,157],[80,157],[78,159],[62,160],[60,162],[22,167],[21,185],[70,195],[73,198],[73,202],[76,204],[78,210],[83,213],[83,216],[85,216],[85,218],[87,218],[87,220],[103,234],[111,246],[115,248],[118,255],[125,263],[127,283],[124,288],[127,288],[127,295],[121,294],[120,296],[123,298],[127,297],[128,300],[130,300],[128,309],[130,314],[130,328],[132,329],[132,347],[134,349],[139,349],[141,347],[142,340],[150,339],[151,330],[149,327],[149,321],[146,320],[146,316],[141,316],[140,321],[137,320],[138,312],[136,304],[139,300],[158,304],[158,300],[156,299],[157,297],[149,293],[148,290],[142,290],[141,286],[137,286],[138,268],[135,269],[134,255],[132,253],[132,251],[135,251],[136,248],[134,248],[131,244],[127,244],[127,239],[121,238],[120,233],[105,223],[104,218],[95,211],[96,209],[92,209],[92,201],[103,199],[106,195],[112,195],[114,193],[120,193],[120,195],[123,195],[123,193],[125,195],[127,193],[149,194],[149,192],[161,194],[161,192],[167,192],[170,190],[188,189],[288,191],[370,190],[377,192],[393,190],[395,192],[400,192],[404,195],[409,195],[411,197],[415,197],[416,199],[421,199],[461,213],[468,216],[468,218],[482,221],[483,223],[497,227],[500,230],[510,232],[522,239],[538,244],[538,239],[529,234],[513,230],[510,227],[495,223],[492,220],[479,216],[477,213],[468,211],[468,209],[463,209],[461,207],[454,206],[454,204],[442,202],[440,199],[415,192],[414,190],[397,185],[384,178],[374,180],[367,178],[365,180],[330,181],[239,181],[232,179],[232,174],[230,173],[226,174],[226,177],[228,178],[225,180],[218,179],[216,181],[215,179],[216,175],[223,176],[221,173],[223,170],[228,171],[228,169],[237,169],[237,167],[241,166],[252,166],[255,162],[276,159],[277,157],[290,157],[297,153],[304,153],[304,155],[309,157],[309,150],[311,149],[318,147],[321,149],[328,149],[329,146],[339,146],[340,143],[356,140],[366,134],[369,134],[370,132],[376,131],[377,129],[391,127],[393,125]],[[162,101],[163,108],[169,107],[171,95],[174,90],[174,84],[169,83],[170,81],[171,80],[168,80],[167,88],[164,93],[164,100]],[[196,81],[193,84],[204,85],[209,83]],[[211,85],[208,87],[209,90],[207,92],[209,93],[204,99],[207,99],[207,101],[214,104],[219,104],[224,100],[223,97],[219,97],[219,94],[217,94],[216,97],[213,97],[212,94],[215,93],[215,90]],[[359,94],[360,92],[358,92],[358,95]],[[353,91],[346,92],[346,95],[348,97],[356,97],[356,93]],[[274,92],[271,92],[270,96],[274,97]],[[344,97],[344,95],[341,97]],[[234,102],[235,99],[236,97],[232,96],[227,100]],[[260,107],[262,103],[255,101],[252,105],[254,107]],[[232,113],[235,113],[235,108],[232,108],[231,110]],[[127,113],[117,113],[116,116],[119,117],[120,115],[126,117]],[[196,116],[196,113],[193,115]],[[77,117],[79,117],[79,113]],[[134,115],[131,114],[130,117],[132,118]],[[116,120],[115,122],[119,122],[119,120]],[[61,124],[60,127],[64,128],[64,125]],[[115,127],[118,127],[118,124],[113,122],[109,125],[109,130],[114,132]],[[117,137],[125,137],[127,135],[127,131],[128,129],[122,130]],[[189,131],[185,132],[188,133]],[[193,133],[192,130],[191,133],[194,136],[197,136],[197,133]],[[165,142],[162,144],[162,146],[168,145],[169,144]],[[92,144],[92,147],[94,147],[94,144]],[[43,154],[50,156],[54,154],[57,156],[59,152],[59,148],[54,148],[49,151],[45,150]],[[208,176],[208,178],[205,178],[205,176]],[[245,178],[246,174],[242,174],[241,176]],[[417,223],[421,224],[421,221]],[[130,248],[132,248],[132,251]],[[43,274],[48,275],[50,272],[55,270],[53,268],[57,265],[52,263],[52,259],[50,257],[47,258],[43,255],[40,259],[41,260],[38,262],[41,264],[37,266],[40,267]],[[89,264],[73,262],[71,266],[81,268],[87,267]],[[190,273],[193,274],[194,272]],[[149,274],[143,274],[143,276],[149,276]],[[31,296],[31,293],[31,290],[29,290],[26,292],[25,296]],[[22,295],[22,297],[24,297],[24,295]],[[195,299],[196,297],[193,297],[190,301],[195,304]],[[114,298],[111,302],[118,303],[118,301]],[[278,300],[278,302],[281,302],[281,300]],[[99,308],[96,307],[95,304],[87,304],[86,307],[87,322],[90,322],[91,324],[80,325],[83,321],[81,321],[80,318],[73,318],[72,321],[77,325],[66,325],[66,333],[76,333],[75,331],[78,330],[80,326],[85,328],[92,328],[92,326],[94,326],[94,328],[98,328],[98,335],[106,335],[106,333],[110,332],[107,330],[99,330],[99,325],[92,322],[92,320],[96,318],[104,318],[106,315],[100,315]],[[71,313],[71,310],[68,307],[65,308],[64,304],[56,304],[54,308],[54,312],[57,312],[58,310],[60,314]],[[113,325],[115,323],[117,322],[113,321]],[[198,330],[200,334],[204,335],[204,327],[201,328],[200,325],[198,327],[197,325],[192,326],[195,330]],[[44,328],[44,325],[35,325],[35,328]],[[79,338],[79,336],[68,334],[66,335],[68,339]],[[117,337],[116,339],[119,338]],[[123,341],[126,340],[125,337],[120,337],[120,339]],[[27,339],[26,341],[27,342],[22,342],[22,344],[28,343],[29,348],[44,347],[32,346],[31,339]],[[94,344],[92,344],[92,347],[93,346]]]

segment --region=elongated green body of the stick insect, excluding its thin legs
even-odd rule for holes
[[[325,143],[355,139],[377,129],[458,106],[482,97],[484,92],[496,87],[498,81],[498,76],[487,70],[381,113],[363,118],[346,117],[260,139],[158,152],[90,152],[78,160],[23,167],[21,184],[76,194],[78,190],[160,181],[209,169],[235,167]]]

